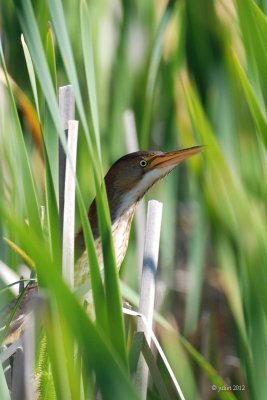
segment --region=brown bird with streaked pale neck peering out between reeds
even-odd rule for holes
[[[194,146],[171,152],[137,151],[121,157],[109,169],[104,180],[118,269],[127,251],[133,216],[140,200],[157,181],[173,171],[183,160],[201,153],[204,148],[205,146]],[[89,208],[88,218],[99,266],[103,270],[96,199]],[[75,237],[75,248],[77,257],[74,274],[75,287],[79,287],[89,279],[88,257],[82,228]]]

